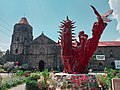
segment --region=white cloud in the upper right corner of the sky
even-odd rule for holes
[[[117,20],[117,30],[120,32],[120,0],[109,0],[110,8],[114,10],[113,18]]]

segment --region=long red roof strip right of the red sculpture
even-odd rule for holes
[[[120,41],[100,41],[98,46],[120,46]]]

